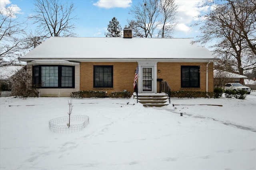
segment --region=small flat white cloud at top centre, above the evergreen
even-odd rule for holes
[[[132,0],[98,0],[93,4],[100,8],[128,8],[132,5]]]

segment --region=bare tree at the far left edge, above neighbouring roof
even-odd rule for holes
[[[0,64],[12,64],[22,53],[24,22],[11,7],[0,9]]]

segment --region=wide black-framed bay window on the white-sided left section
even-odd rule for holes
[[[33,66],[33,84],[40,88],[74,88],[74,66]]]

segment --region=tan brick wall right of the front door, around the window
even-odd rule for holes
[[[207,63],[166,63],[158,62],[157,77],[166,81],[172,91],[193,90],[206,92],[206,64]],[[181,88],[181,66],[200,66],[200,88]],[[159,82],[157,83],[157,91],[159,92]],[[208,64],[208,92],[213,92],[213,63]]]

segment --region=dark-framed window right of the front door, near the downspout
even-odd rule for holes
[[[199,66],[181,66],[181,87],[200,88]]]

